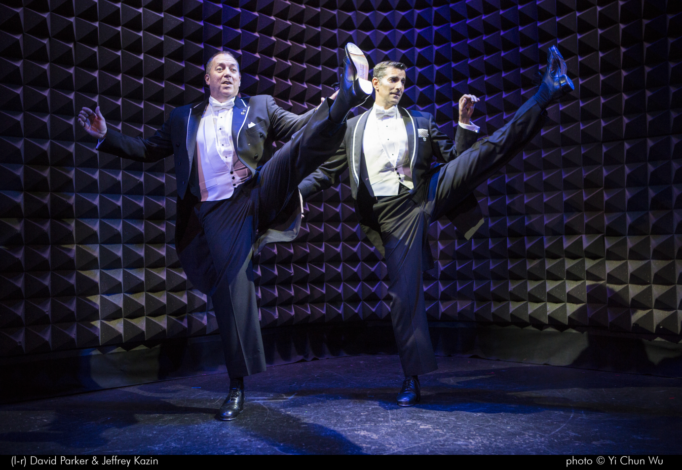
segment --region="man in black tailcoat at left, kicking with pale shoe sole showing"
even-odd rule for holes
[[[353,44],[345,52],[340,90],[301,116],[271,96],[238,97],[239,63],[226,51],[206,64],[208,99],[175,108],[150,138],[107,129],[99,107],[78,115],[100,151],[143,162],[175,155],[175,246],[188,280],[213,300],[230,376],[221,420],[243,408],[243,377],[265,371],[252,255],[295,238],[297,185],[337,151],[346,116],[370,96],[364,54]],[[288,142],[273,154],[276,140]]]

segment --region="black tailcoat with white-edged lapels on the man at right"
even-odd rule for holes
[[[407,131],[407,155],[410,159],[414,189],[413,200],[421,204],[421,198],[426,196],[428,191],[424,191],[424,185],[430,183],[430,177],[439,168],[439,163],[450,161],[466,151],[478,138],[474,131],[457,126],[455,142],[436,127],[432,114],[428,112],[406,110],[398,107],[405,123]],[[308,195],[327,189],[335,185],[340,175],[349,169],[351,179],[351,194],[355,202],[355,213],[357,214],[362,230],[367,234],[370,241],[381,253],[384,253],[383,243],[379,225],[374,219],[372,203],[374,198],[370,195],[365,184],[360,184],[360,162],[364,158],[362,151],[362,141],[364,138],[365,125],[367,123],[370,110],[355,116],[348,121],[348,129],[342,146],[338,153],[327,160],[315,172],[301,181],[299,190],[306,198]],[[421,131],[420,131],[421,129]],[[419,136],[421,134],[421,137]],[[472,214],[475,212],[475,214]],[[466,213],[466,214],[464,214]],[[459,217],[460,215],[465,217]],[[467,225],[475,225],[481,219],[478,204],[473,195],[469,195],[460,206],[454,208],[448,217],[462,221],[466,220]],[[460,232],[466,232],[469,227],[458,227]]]

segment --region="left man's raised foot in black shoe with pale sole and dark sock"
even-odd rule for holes
[[[335,123],[343,123],[356,106],[364,104],[372,96],[372,82],[368,80],[370,66],[359,47],[352,42],[344,49],[344,72],[341,74],[339,94],[331,105],[329,117]]]

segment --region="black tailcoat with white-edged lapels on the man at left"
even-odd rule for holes
[[[196,155],[196,133],[201,116],[208,105],[208,99],[201,103],[179,106],[170,112],[168,121],[150,138],[124,136],[115,129],[109,129],[98,150],[145,163],[158,161],[175,155],[175,178],[177,182],[177,222],[175,225],[175,244],[180,261],[188,279],[202,292],[209,292],[213,274],[207,272],[205,259],[209,256],[203,239],[203,229],[194,215],[196,196],[188,191],[190,172]],[[232,113],[232,140],[237,157],[251,169],[254,180],[260,166],[271,157],[272,143],[276,140],[289,140],[302,129],[312,116],[310,110],[301,116],[285,111],[269,95],[237,97]],[[250,123],[253,123],[249,127]],[[248,183],[245,183],[248,184]],[[291,198],[292,205],[300,207],[298,198]],[[300,210],[288,208],[279,223],[261,234],[257,242],[262,247],[265,242],[293,240],[300,226]],[[296,216],[297,215],[297,216]],[[268,233],[269,232],[269,233]],[[185,252],[186,253],[183,253]]]

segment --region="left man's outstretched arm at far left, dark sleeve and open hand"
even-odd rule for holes
[[[170,114],[173,115],[172,112]],[[148,139],[128,137],[115,129],[108,129],[99,106],[94,111],[83,107],[78,113],[78,124],[98,140],[98,150],[117,157],[150,163],[173,154],[170,119]]]

